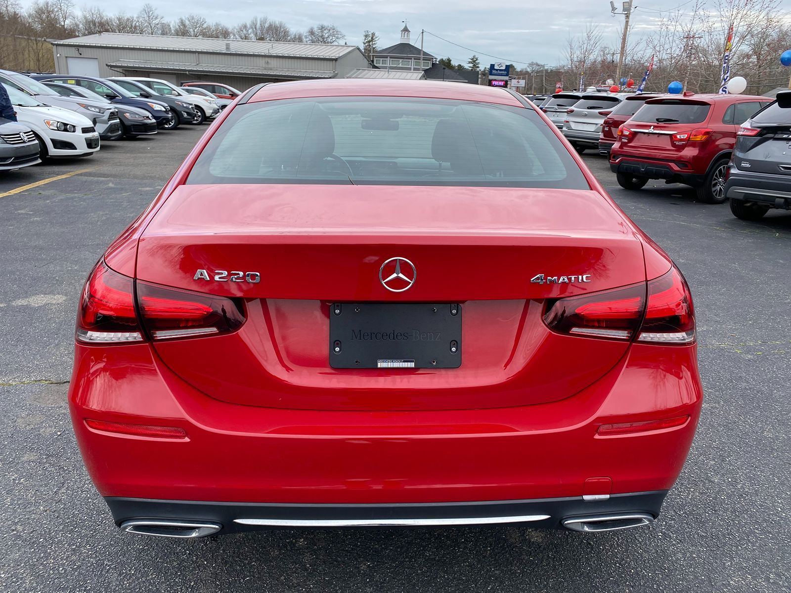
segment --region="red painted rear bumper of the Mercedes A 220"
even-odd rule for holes
[[[146,344],[78,345],[69,403],[85,465],[104,497],[404,504],[666,491],[691,446],[702,389],[695,346],[634,345],[600,380],[558,402],[285,410],[209,398]],[[685,415],[673,429],[596,432],[606,423]],[[187,438],[101,432],[86,418],[175,426]]]

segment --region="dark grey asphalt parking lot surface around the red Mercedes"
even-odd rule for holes
[[[704,413],[653,527],[120,533],[66,408],[78,294],[205,129],[0,177],[0,590],[791,591],[791,213],[746,222],[679,186],[624,191],[587,154],[676,259],[698,312]]]

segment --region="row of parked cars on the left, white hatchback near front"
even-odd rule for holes
[[[191,81],[178,87],[147,77],[25,75],[0,70],[17,123],[0,119],[0,172],[47,158],[89,157],[101,141],[157,134],[214,119],[237,89]],[[218,97],[207,88],[221,88]]]

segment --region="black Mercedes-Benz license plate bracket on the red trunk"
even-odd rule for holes
[[[461,305],[334,303],[331,368],[459,368]]]

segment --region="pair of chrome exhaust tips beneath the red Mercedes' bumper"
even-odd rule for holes
[[[598,531],[619,531],[632,527],[643,527],[653,523],[653,515],[646,512],[630,512],[619,515],[589,515],[568,517],[561,524],[571,531],[593,533]],[[121,523],[127,533],[153,535],[160,538],[205,538],[221,531],[220,523],[210,521],[187,521],[180,519],[131,519]]]

